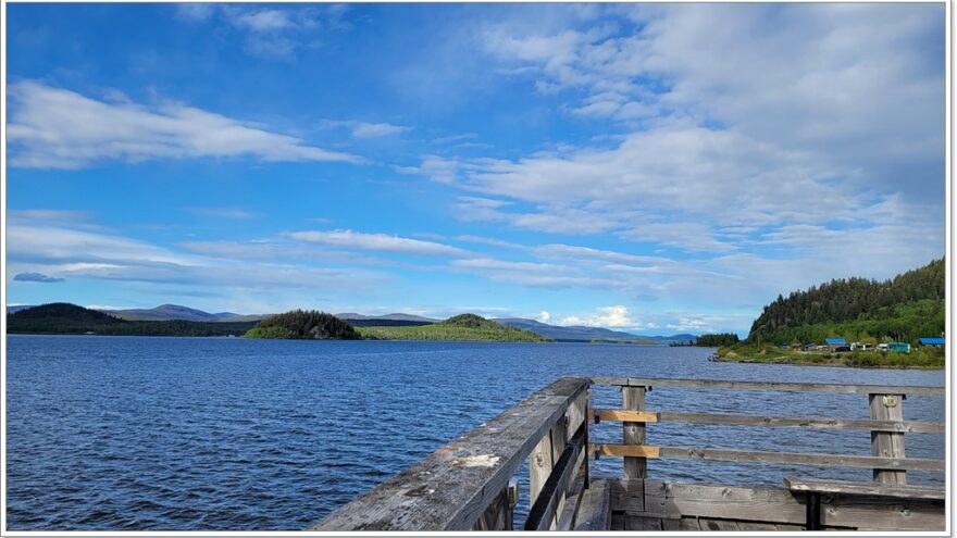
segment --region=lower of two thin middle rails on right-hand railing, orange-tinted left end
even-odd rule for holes
[[[657,449],[658,454],[655,455]],[[929,458],[878,458],[873,455],[818,452],[766,452],[761,450],[714,449],[706,447],[650,447],[647,445],[595,445],[601,455],[681,458],[718,462],[796,463],[835,467],[887,468],[902,471],[944,471],[944,460]]]

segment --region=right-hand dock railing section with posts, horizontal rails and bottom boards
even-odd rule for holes
[[[866,524],[868,528],[892,529],[936,529],[943,522],[943,488],[921,488],[907,486],[908,471],[945,471],[945,461],[928,458],[907,458],[905,455],[905,434],[945,434],[946,425],[939,422],[906,421],[904,401],[908,395],[944,397],[944,387],[919,386],[877,386],[841,384],[762,383],[714,379],[673,379],[639,377],[593,377],[594,385],[619,387],[622,393],[621,409],[592,409],[594,423],[614,422],[622,424],[621,443],[594,443],[589,452],[596,458],[622,456],[623,478],[614,484],[612,504],[625,512],[631,510],[634,520],[623,525],[629,529],[667,528],[667,522],[681,521],[688,515],[709,517],[718,527],[701,529],[745,529],[743,526],[722,528],[722,522],[750,520],[784,523],[771,528],[854,528]],[[870,418],[834,418],[816,416],[771,416],[753,414],[726,414],[708,412],[676,412],[661,409],[647,409],[645,397],[652,388],[679,388],[685,390],[732,390],[732,391],[773,391],[773,392],[832,392],[859,393],[867,396]],[[870,455],[850,455],[818,452],[788,452],[739,450],[709,447],[672,447],[649,445],[646,428],[659,423],[686,423],[722,426],[790,427],[806,429],[857,429],[870,431]],[[867,483],[838,483],[821,480],[785,479],[788,489],[774,491],[772,488],[726,488],[707,486],[666,485],[648,480],[649,459],[693,459],[713,462],[760,462],[792,465],[812,465],[821,467],[862,467],[871,468],[873,487]],[[809,489],[809,484],[815,488]],[[870,497],[862,504],[859,496],[869,491]],[[821,521],[821,498],[829,514],[825,523]],[[741,497],[734,499],[735,496]],[[852,501],[848,497],[858,496]],[[799,499],[796,499],[799,497]],[[874,506],[875,499],[907,498],[908,506],[902,508],[897,501],[894,510],[868,511],[861,505]],[[842,510],[835,498],[843,499]],[[886,503],[886,500],[884,501]],[[652,506],[654,504],[657,506]],[[832,504],[834,503],[834,504]],[[847,505],[854,506],[848,510]],[[633,510],[632,510],[633,509]],[[927,509],[933,517],[921,517]],[[940,512],[940,514],[937,514]],[[649,517],[654,515],[654,517]],[[937,517],[940,515],[940,517]],[[865,521],[867,520],[867,521]],[[663,527],[657,527],[664,521]],[[942,524],[942,523],[941,523]],[[799,527],[798,527],[799,525]],[[924,525],[928,525],[924,528]],[[748,529],[766,529],[766,526],[749,526]],[[693,529],[698,527],[673,527],[672,529]]]

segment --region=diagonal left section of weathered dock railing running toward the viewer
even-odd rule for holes
[[[309,530],[509,530],[529,460],[522,528],[556,528],[587,480],[587,378],[561,378],[346,504]]]

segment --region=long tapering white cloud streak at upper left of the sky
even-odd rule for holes
[[[200,157],[362,161],[184,104],[108,103],[32,80],[10,85],[8,98],[13,166],[78,168],[114,160]]]

